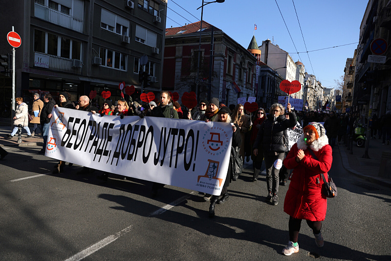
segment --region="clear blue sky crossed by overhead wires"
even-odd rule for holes
[[[300,55],[305,71],[314,74],[323,86],[334,88],[334,80],[339,80],[344,74],[346,59],[352,58],[357,48],[358,44],[347,44],[359,41],[360,24],[368,0],[277,0],[277,3],[276,0],[225,0],[223,3],[211,3],[204,6],[203,20],[223,30],[245,48],[250,44],[254,24],[257,24],[255,38],[258,46],[266,39],[274,39],[274,44],[289,52],[295,62],[300,59]],[[202,0],[168,0],[166,27],[198,22],[201,8],[196,9],[201,4]],[[347,46],[335,47],[342,45]],[[327,47],[335,48],[312,51]],[[309,59],[306,50],[309,51]]]

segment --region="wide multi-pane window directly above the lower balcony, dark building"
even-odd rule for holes
[[[34,30],[34,51],[80,60],[82,45],[72,39]]]

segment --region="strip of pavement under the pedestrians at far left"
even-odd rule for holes
[[[18,143],[18,135],[15,135],[12,139],[7,138],[7,134],[10,134],[13,130],[11,127],[11,120],[0,118],[0,146],[43,146],[42,134],[38,134],[31,138],[26,138],[27,134],[25,130],[22,130],[22,143]]]

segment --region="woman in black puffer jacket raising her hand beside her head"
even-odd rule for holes
[[[279,172],[285,152],[288,151],[288,128],[296,125],[296,114],[292,113],[290,103],[286,106],[289,119],[285,118],[285,108],[280,103],[270,107],[267,119],[262,123],[254,142],[254,156],[259,149],[263,151],[266,166],[267,197],[266,202],[272,200],[273,205],[278,204]]]

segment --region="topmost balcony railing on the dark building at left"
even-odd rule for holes
[[[84,21],[82,19],[64,14],[37,2],[35,3],[34,15],[36,18],[41,18],[49,23],[83,33]]]

